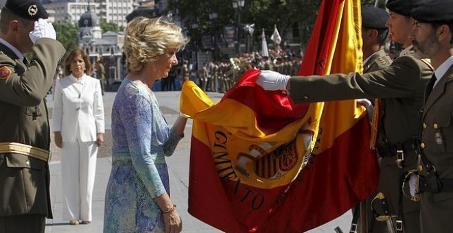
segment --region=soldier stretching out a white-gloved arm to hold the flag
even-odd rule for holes
[[[386,69],[369,73],[333,74],[309,77],[290,77],[272,71],[262,71],[257,84],[266,90],[288,88],[296,103],[312,103],[342,99],[380,99],[377,145],[381,160],[379,192],[388,203],[388,211],[395,216],[393,230],[416,233],[419,226],[419,203],[402,195],[404,173],[417,167],[419,110],[423,107],[425,86],[432,75],[426,61],[411,54],[408,39],[414,20],[410,17],[415,0],[388,0],[390,10],[387,27],[391,37],[402,43],[402,56]],[[374,145],[373,145],[374,146]],[[400,169],[402,168],[402,169]]]

